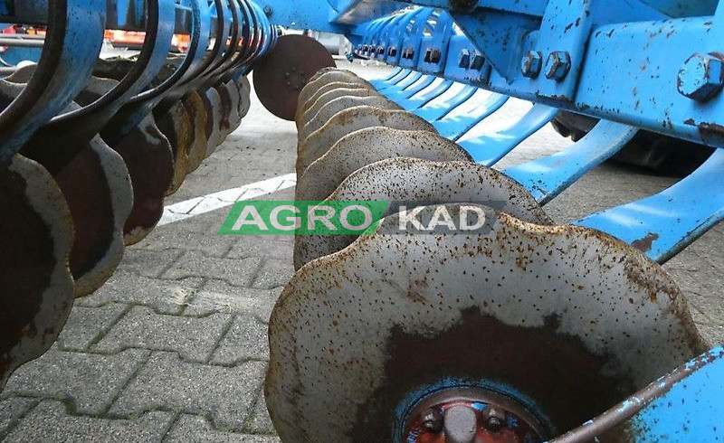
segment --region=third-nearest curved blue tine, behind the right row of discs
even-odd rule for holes
[[[497,132],[462,140],[460,146],[470,153],[476,163],[495,165],[516,146],[556,117],[557,108],[536,104],[517,122]]]

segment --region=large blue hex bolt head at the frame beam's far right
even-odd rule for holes
[[[695,53],[689,57],[679,71],[677,87],[690,99],[713,99],[724,87],[724,55]]]

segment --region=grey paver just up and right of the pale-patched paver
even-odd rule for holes
[[[164,274],[163,278],[205,277],[227,281],[237,287],[249,287],[261,265],[262,259],[216,259],[191,250]]]

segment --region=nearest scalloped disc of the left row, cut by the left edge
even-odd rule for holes
[[[71,312],[71,212],[43,166],[15,155],[0,166],[0,389],[44,353]]]

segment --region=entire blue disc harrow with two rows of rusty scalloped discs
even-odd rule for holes
[[[0,21],[47,26],[36,63],[0,68],[0,389],[239,127],[253,70],[298,130],[295,199],[386,203],[372,229],[296,233],[264,382],[281,441],[724,438],[724,348],[662,268],[724,218],[724,1],[0,0]],[[106,29],[145,38],[101,59]],[[511,99],[532,106],[473,135]],[[500,167],[549,123],[573,143]],[[713,154],[548,215],[642,135]]]

